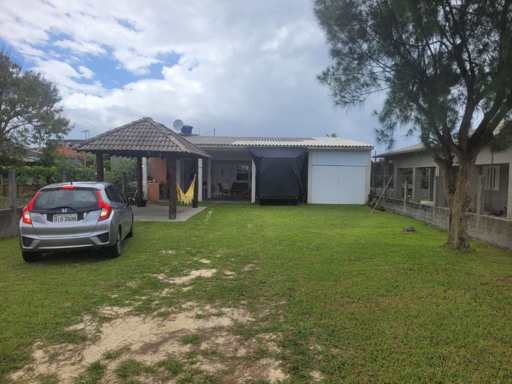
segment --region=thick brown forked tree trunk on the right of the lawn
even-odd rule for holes
[[[450,207],[447,244],[453,248],[471,248],[470,238],[467,234],[467,210],[471,203],[469,191],[475,160],[476,158],[468,158],[460,162],[456,180],[453,180],[453,167],[451,164],[444,164],[444,166],[440,167],[444,182],[444,192]]]

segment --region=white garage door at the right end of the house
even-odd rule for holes
[[[368,153],[310,153],[311,202],[364,204]],[[360,165],[359,165],[360,164]]]

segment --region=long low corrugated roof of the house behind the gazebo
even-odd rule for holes
[[[340,137],[241,137],[241,136],[183,136],[199,146],[304,146],[304,147],[360,147],[371,144]]]

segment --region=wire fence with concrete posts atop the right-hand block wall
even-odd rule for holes
[[[434,176],[429,168],[423,168],[421,174],[413,172],[402,175],[372,174],[370,193],[374,196],[382,196],[399,200],[413,201],[420,204],[438,207],[449,207],[446,199],[442,178]],[[482,169],[487,169],[482,167]],[[481,169],[478,169],[481,172]],[[509,179],[508,170],[505,175],[497,172],[473,175],[469,188],[469,211],[476,213],[480,208],[482,215],[499,218],[507,217]],[[479,179],[479,176],[481,178]],[[481,180],[481,181],[479,181]],[[481,185],[479,186],[479,182]],[[478,196],[480,207],[478,206]]]

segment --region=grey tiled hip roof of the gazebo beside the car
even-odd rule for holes
[[[139,153],[141,156],[155,154],[189,154],[200,157],[210,157],[182,136],[169,130],[165,125],[150,117],[124,124],[116,129],[91,137],[73,149],[86,152],[104,152],[106,154]]]

